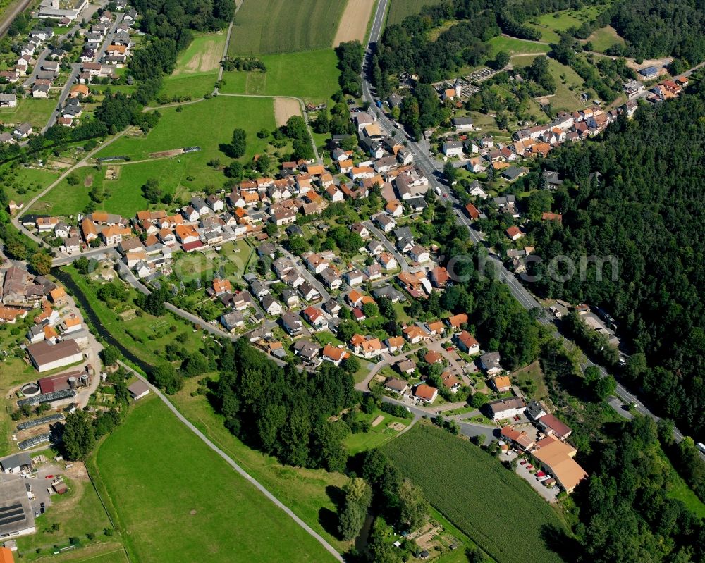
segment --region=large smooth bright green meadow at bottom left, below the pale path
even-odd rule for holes
[[[128,538],[130,559],[333,560],[154,395],[130,412],[90,464]]]

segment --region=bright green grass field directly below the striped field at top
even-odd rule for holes
[[[234,31],[233,31],[234,33]],[[338,89],[338,57],[333,49],[264,55],[266,73],[231,70],[223,73],[221,92],[295,96],[305,101],[327,101]],[[315,69],[315,72],[312,72]]]

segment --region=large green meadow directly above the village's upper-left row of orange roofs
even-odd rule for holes
[[[223,165],[231,161],[220,151],[219,144],[231,142],[233,129],[243,128],[247,132],[247,151],[243,159],[251,159],[267,148],[267,141],[260,140],[256,133],[275,128],[274,102],[266,98],[216,97],[181,106],[181,111],[176,109],[161,109],[159,124],[147,135],[125,135],[100,151],[97,156],[131,159],[109,163],[118,169],[116,180],[106,180],[106,166],[99,170],[78,168],[75,171],[78,184],[71,186],[63,180],[32,209],[60,216],[75,215],[90,201],[91,190],[103,187],[107,195],[96,204],[97,209],[130,217],[141,209],[155,207],[142,196],[142,185],[150,178],[159,180],[161,190],[175,197],[186,197],[206,185],[221,185],[225,180],[222,171],[207,163],[212,159],[219,159]],[[201,150],[168,158],[149,158],[154,152],[192,146],[199,146]],[[88,176],[92,176],[90,187],[84,185]],[[164,206],[157,207],[163,209]]]

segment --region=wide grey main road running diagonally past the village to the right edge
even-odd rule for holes
[[[379,41],[379,37],[381,37],[382,27],[384,25],[384,16],[386,14],[386,8],[388,3],[389,0],[379,0],[379,3],[377,4],[377,9],[374,14],[374,23],[372,24],[372,31],[369,34],[369,39],[367,42],[367,51],[365,52],[364,61],[362,63],[362,97],[365,101],[369,101],[369,104],[372,107],[375,106],[375,99],[372,94],[372,85],[370,84],[368,79],[370,75],[368,70],[370,63],[372,63],[372,56],[376,49],[376,44]],[[376,117],[380,127],[385,130],[388,135],[393,136],[398,131],[398,129],[395,128],[394,123],[384,114],[384,111],[381,111],[379,109],[374,109],[373,111],[375,111],[376,113]],[[450,191],[448,186],[446,186],[443,182],[439,181],[439,177],[441,176],[443,171],[443,163],[431,157],[428,144],[426,142],[415,142],[412,138],[407,137],[407,148],[410,149],[410,151],[414,155],[414,161],[416,165],[421,168],[421,170],[424,171],[424,173],[429,178],[431,187],[434,187],[434,189],[439,190],[439,192],[441,193],[441,197],[443,199],[447,199],[453,204],[453,208],[455,209],[455,215],[458,217],[458,221],[461,225],[464,225],[470,233],[470,240],[472,240],[472,242],[474,242],[475,244],[482,242],[482,234],[472,228],[470,221],[462,211],[462,206],[460,205],[460,202],[458,202],[458,199],[455,199],[455,196],[453,196],[453,193]],[[555,338],[563,340],[564,342],[569,342],[567,338],[565,338],[558,332],[558,330],[556,330],[556,328],[553,326],[553,323],[549,321],[548,318],[546,318],[546,316],[543,314],[544,307],[542,307],[541,304],[531,295],[531,293],[527,291],[526,287],[524,287],[519,282],[519,280],[517,280],[516,276],[507,268],[505,268],[501,260],[498,259],[497,256],[491,254],[487,258],[488,263],[492,264],[494,268],[496,268],[495,271],[496,273],[498,273],[499,278],[507,285],[512,295],[515,297],[515,299],[517,299],[518,302],[520,302],[522,307],[525,307],[525,309],[529,310],[536,308],[541,309],[542,314],[539,316],[539,323],[543,324],[544,326],[548,326],[549,328],[552,328],[553,335]],[[591,359],[586,357],[582,368],[584,369],[587,366],[596,366],[596,368],[599,369],[603,377],[607,376],[607,371],[602,366],[594,364]],[[644,416],[650,416],[655,421],[658,421],[658,416],[649,411],[649,409],[647,409],[646,406],[644,406],[644,404],[639,401],[637,397],[635,397],[635,395],[627,391],[627,389],[625,389],[624,386],[620,383],[618,383],[617,385],[615,395],[617,395],[620,400],[625,402],[625,404],[633,404],[634,408],[640,414]],[[678,428],[674,428],[673,437],[675,438],[676,442],[680,442],[683,439],[683,434],[678,430]],[[701,457],[705,459],[705,454],[701,453]]]

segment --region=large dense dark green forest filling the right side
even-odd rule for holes
[[[600,140],[556,150],[548,166],[568,180],[554,194],[563,225],[532,228],[544,259],[616,257],[614,282],[609,265],[599,280],[593,264],[584,280],[544,276],[537,290],[610,311],[634,347],[627,379],[656,412],[696,435],[705,428],[704,118],[700,82],[631,122],[620,118]]]

